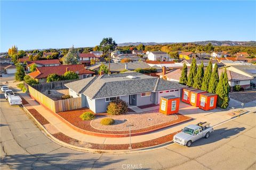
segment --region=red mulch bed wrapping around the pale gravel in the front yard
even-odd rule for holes
[[[92,112],[92,111],[89,108],[82,108],[82,109],[76,109],[74,111],[59,112],[58,114],[61,117],[63,117],[66,121],[68,121],[69,123],[76,126],[77,128],[80,128],[80,129],[83,129],[83,130],[86,130],[86,131],[97,132],[97,133],[105,133],[105,134],[127,134],[127,133],[129,133],[128,130],[126,130],[126,131],[108,131],[108,130],[94,129],[91,126],[90,121],[83,121],[79,117],[84,112]],[[106,113],[95,114],[96,117],[105,116],[105,115],[106,115]],[[150,127],[147,127],[147,128],[135,129],[135,130],[132,130],[131,133],[146,132],[146,131],[149,131],[149,130],[162,128],[164,126],[171,125],[171,124],[174,124],[174,123],[177,123],[177,122],[191,120],[190,117],[187,117],[187,116],[184,116],[184,115],[181,115],[181,114],[177,114],[177,116],[178,116],[178,119],[175,120],[175,121],[165,122],[165,123],[153,125],[153,126],[150,126]]]

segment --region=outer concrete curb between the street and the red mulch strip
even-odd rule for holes
[[[48,132],[44,126],[39,123],[36,118],[28,111],[28,109],[23,106],[22,104],[22,108],[23,110],[30,115],[30,117],[33,118],[33,120],[36,122],[36,124],[39,126],[39,128],[41,128],[43,130],[43,132],[45,133],[45,135],[51,139],[52,141],[54,141],[55,143],[57,143],[58,145],[62,146],[62,147],[66,147],[66,148],[70,148],[70,149],[74,149],[74,150],[78,150],[78,151],[85,151],[85,152],[91,152],[91,153],[104,153],[104,154],[130,154],[130,153],[136,153],[136,152],[142,152],[142,151],[149,151],[149,150],[155,150],[155,149],[159,149],[159,148],[163,148],[166,147],[167,145],[171,145],[173,144],[173,141],[169,141],[169,142],[165,142],[156,146],[151,146],[151,147],[146,147],[146,148],[139,148],[139,149],[127,149],[127,150],[101,150],[101,149],[90,149],[90,148],[82,148],[82,147],[76,147],[73,145],[70,145],[69,143],[63,142],[57,138],[55,138],[50,132]]]

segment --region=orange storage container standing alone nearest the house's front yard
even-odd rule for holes
[[[180,98],[174,95],[161,97],[159,112],[170,115],[179,112]]]

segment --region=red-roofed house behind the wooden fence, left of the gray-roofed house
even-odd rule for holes
[[[28,73],[31,78],[37,79],[39,83],[46,83],[46,78],[49,74],[58,74],[62,75],[67,71],[73,71],[77,73],[79,79],[85,79],[92,77],[94,72],[86,70],[83,64],[74,64],[74,65],[58,65],[58,66],[46,66],[46,67],[37,67],[36,71]]]

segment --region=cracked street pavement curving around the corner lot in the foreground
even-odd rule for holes
[[[170,145],[133,154],[92,154],[57,145],[1,94],[1,169],[255,169],[255,113],[214,128],[190,148]],[[255,111],[255,110],[254,110]]]

